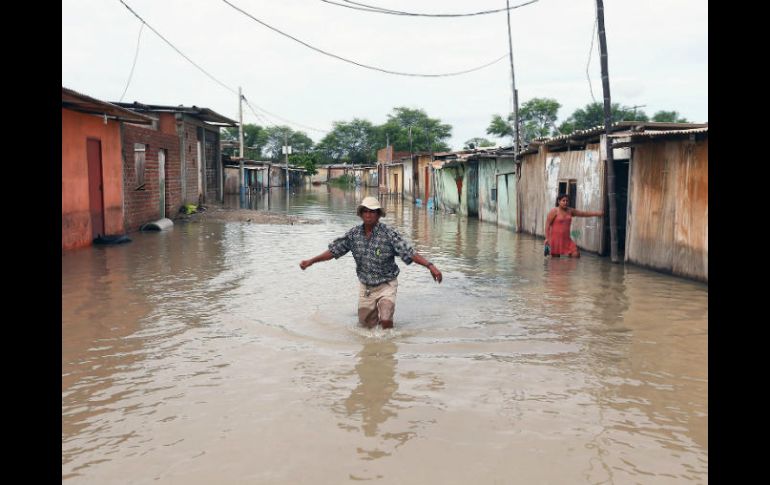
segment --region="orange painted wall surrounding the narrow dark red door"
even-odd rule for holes
[[[117,122],[62,108],[62,249],[91,245],[87,139],[101,142],[104,228],[124,232],[123,163]]]

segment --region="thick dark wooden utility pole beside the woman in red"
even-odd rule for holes
[[[618,214],[615,194],[615,160],[612,156],[612,105],[610,103],[610,75],[607,69],[607,38],[604,35],[604,2],[596,0],[596,19],[599,26],[599,49],[602,64],[602,91],[604,92],[604,144],[607,151],[607,198],[610,208],[610,261],[619,263]]]

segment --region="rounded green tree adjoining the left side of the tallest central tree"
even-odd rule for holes
[[[376,137],[377,130],[367,120],[335,121],[316,148],[329,161],[362,164],[376,158]]]

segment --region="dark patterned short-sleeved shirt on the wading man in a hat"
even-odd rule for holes
[[[380,285],[398,276],[396,255],[406,264],[412,264],[412,256],[416,252],[398,231],[381,222],[374,226],[369,239],[361,224],[329,244],[329,252],[335,259],[348,251],[353,252],[356,260],[358,279],[369,286]]]

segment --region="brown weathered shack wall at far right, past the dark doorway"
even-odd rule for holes
[[[708,140],[634,147],[626,260],[708,281]]]

